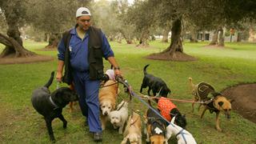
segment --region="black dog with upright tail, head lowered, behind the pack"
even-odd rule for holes
[[[161,78],[155,77],[152,74],[147,74],[146,67],[150,65],[146,65],[144,67],[144,78],[141,86],[141,90],[139,91],[142,93],[142,89],[149,86],[149,90],[147,90],[147,94],[150,95],[150,90],[153,91],[154,96],[156,96],[157,93],[159,93],[162,97],[167,97],[167,95],[170,93],[170,89],[166,85],[166,82],[164,82]]]

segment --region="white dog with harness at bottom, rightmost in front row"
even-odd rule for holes
[[[196,144],[194,137],[190,132],[174,124],[174,118],[171,119],[170,125],[166,127],[166,143],[171,135],[176,135],[178,144]]]

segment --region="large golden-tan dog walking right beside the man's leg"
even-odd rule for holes
[[[100,102],[102,130],[106,128],[108,114],[115,109],[116,99],[118,96],[118,83],[112,80],[107,81],[101,90],[99,90],[98,98]]]

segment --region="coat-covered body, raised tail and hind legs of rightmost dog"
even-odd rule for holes
[[[198,101],[208,101],[210,100],[208,98],[208,94],[214,93],[214,87],[211,86],[209,83],[206,82],[200,82],[197,85],[195,85],[192,82],[192,78],[189,78],[190,82],[190,89],[191,89],[191,94],[194,95],[194,102]],[[198,106],[198,110],[200,109],[201,104]],[[192,112],[194,112],[194,103],[192,103]]]

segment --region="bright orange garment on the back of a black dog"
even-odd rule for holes
[[[177,106],[175,106],[173,102],[170,102],[168,98],[159,98],[158,109],[160,110],[160,114],[162,114],[162,116],[169,122],[171,120],[170,110],[173,110],[174,108],[177,108]]]

